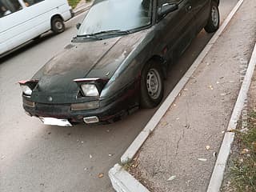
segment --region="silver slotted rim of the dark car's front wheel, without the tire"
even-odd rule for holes
[[[150,69],[146,75],[146,89],[150,98],[157,99],[161,94],[162,83],[160,74],[155,69]]]

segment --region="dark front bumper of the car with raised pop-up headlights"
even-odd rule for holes
[[[130,113],[131,110],[138,108],[138,86],[135,87],[132,91],[122,91],[122,94],[111,99],[111,102],[100,101],[99,108],[95,110],[74,111],[71,110],[71,103],[45,104],[32,102],[30,98],[24,96],[23,108],[27,114],[38,118],[58,118],[67,119],[70,122],[85,122],[84,118],[97,117],[99,122],[112,122],[114,118],[122,117]]]

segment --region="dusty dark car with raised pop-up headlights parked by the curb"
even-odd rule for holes
[[[204,27],[218,30],[218,0],[96,0],[78,34],[33,78],[23,107],[45,124],[111,122],[162,101],[170,59]]]

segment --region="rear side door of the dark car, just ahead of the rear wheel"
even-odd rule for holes
[[[197,33],[202,30],[210,16],[210,2],[211,0],[191,0],[192,11],[195,16],[197,26]]]

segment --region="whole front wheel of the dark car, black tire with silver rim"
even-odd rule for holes
[[[154,108],[158,106],[162,101],[163,91],[164,83],[162,68],[159,63],[150,61],[142,70],[140,93],[141,107]]]

